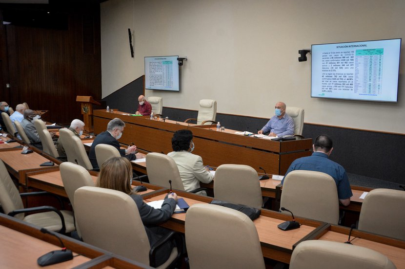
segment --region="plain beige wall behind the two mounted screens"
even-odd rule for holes
[[[163,106],[216,99],[220,113],[270,117],[281,100],[303,107],[307,123],[405,133],[404,45],[398,103],[311,98],[311,57],[297,59],[311,44],[403,38],[404,11],[404,0],[109,0],[101,3],[102,96],[143,75],[144,56],[179,54],[188,57],[181,91],[145,92]]]

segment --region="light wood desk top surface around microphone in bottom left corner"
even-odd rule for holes
[[[49,251],[61,250],[60,246],[52,245],[4,226],[0,226],[0,238],[0,268],[42,268],[37,263],[37,259],[41,255]],[[73,255],[76,255],[76,253]],[[89,260],[87,257],[77,256],[73,260],[47,266],[46,268],[72,268]]]

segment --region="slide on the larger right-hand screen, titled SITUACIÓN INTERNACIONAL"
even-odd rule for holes
[[[401,38],[312,45],[311,97],[397,102]]]

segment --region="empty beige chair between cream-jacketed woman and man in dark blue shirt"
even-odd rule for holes
[[[261,208],[262,189],[255,169],[243,164],[222,164],[214,178],[214,197],[223,201]]]

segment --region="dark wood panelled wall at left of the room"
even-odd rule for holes
[[[27,102],[30,108],[50,110],[50,120],[70,123],[82,118],[77,95],[101,99],[100,6],[73,3],[63,7],[68,29],[46,29],[13,24],[7,34],[12,107]],[[83,51],[83,16],[92,20],[94,53]],[[88,33],[88,31],[87,31]],[[88,36],[85,43],[89,42]],[[87,51],[88,52],[88,51]]]

